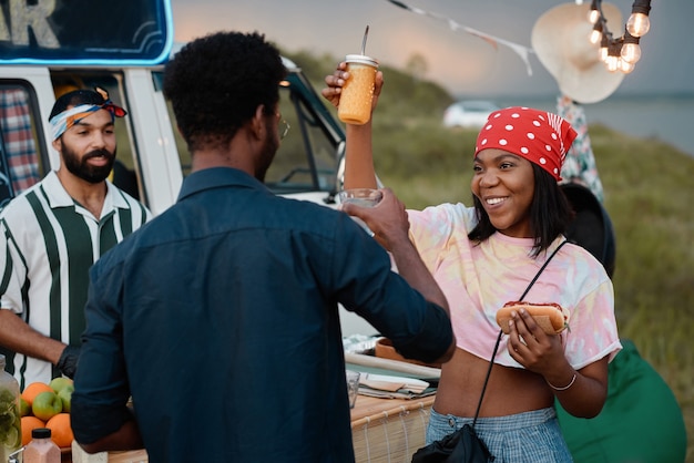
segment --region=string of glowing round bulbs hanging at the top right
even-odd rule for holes
[[[600,59],[610,72],[629,74],[641,59],[640,39],[651,29],[649,12],[651,0],[634,0],[632,12],[624,27],[624,35],[614,39],[602,13],[602,0],[592,0],[588,21],[593,24],[589,41],[600,43]]]

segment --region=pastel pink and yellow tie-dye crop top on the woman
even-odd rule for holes
[[[457,346],[489,359],[499,333],[497,310],[518,300],[551,251],[531,257],[533,240],[496,233],[482,243],[468,238],[477,219],[462,204],[442,204],[408,210],[410,237],[425,264],[448,298]],[[620,351],[614,318],[612,281],[585,249],[568,244],[553,257],[524,298],[528,302],[555,302],[570,312],[561,335],[565,356],[581,369]],[[522,368],[507,349],[503,336],[496,363]]]

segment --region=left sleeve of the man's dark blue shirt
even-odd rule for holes
[[[109,303],[104,288],[108,276],[99,275],[101,261],[90,271],[85,307],[86,329],[74,377],[71,422],[80,443],[92,443],[118,431],[132,420],[127,409],[130,390],[123,359],[123,331],[120,315]],[[96,286],[94,281],[99,281]]]

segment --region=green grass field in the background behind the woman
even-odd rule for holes
[[[438,122],[438,121],[437,121]],[[476,133],[421,122],[399,135],[379,123],[377,171],[408,207],[470,204]],[[694,462],[694,158],[659,141],[590,130],[616,236],[615,310],[631,339],[667,384],[684,414]],[[409,140],[394,146],[392,140]]]

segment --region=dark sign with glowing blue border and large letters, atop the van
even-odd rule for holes
[[[172,44],[169,0],[0,2],[0,64],[152,65]]]

